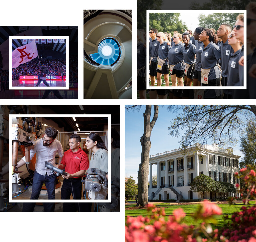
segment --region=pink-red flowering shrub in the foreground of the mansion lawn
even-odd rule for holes
[[[211,224],[216,223],[214,217],[222,214],[217,205],[204,201],[200,203],[198,211],[192,215],[193,224],[183,223],[186,216],[182,208],[173,211],[165,221],[163,208],[156,208],[149,204],[148,217],[128,217],[125,226],[125,242],[256,242],[256,206],[249,206],[248,199],[256,199],[256,172],[249,166],[240,170],[240,176],[246,184],[245,190],[240,190],[246,199],[240,212],[235,212],[221,230],[213,230]],[[240,188],[239,185],[237,186]],[[232,203],[232,201],[230,201]],[[226,216],[228,218],[228,216]],[[200,221],[200,222],[199,222]]]

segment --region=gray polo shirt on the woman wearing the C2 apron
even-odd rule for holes
[[[210,42],[206,48],[203,46],[203,50],[201,53],[201,68],[202,69],[210,69],[209,80],[214,80],[220,78],[221,73],[219,67],[217,66],[217,62],[220,59],[220,48]]]

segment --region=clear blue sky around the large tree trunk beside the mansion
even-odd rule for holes
[[[174,150],[180,147],[180,138],[174,138],[169,135],[168,127],[171,121],[176,117],[176,113],[167,111],[168,105],[159,106],[159,115],[156,124],[151,133],[150,155]],[[141,143],[140,138],[143,135],[145,106],[138,111],[125,112],[125,176],[133,176],[137,183],[138,167],[141,163]],[[152,105],[152,116],[154,108]],[[151,119],[152,120],[152,119]],[[237,146],[233,147],[233,153],[243,157],[239,150],[240,139]],[[208,142],[211,144],[211,142]],[[153,175],[157,174],[157,166],[153,166]]]

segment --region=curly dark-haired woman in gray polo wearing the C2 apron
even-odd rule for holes
[[[208,84],[202,83],[201,86],[218,87],[220,86],[220,70],[217,62],[220,59],[220,49],[213,42],[217,36],[210,29],[204,29],[199,36],[199,41],[204,43],[201,53],[201,68],[210,69],[208,76]]]

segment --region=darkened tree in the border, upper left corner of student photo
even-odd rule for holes
[[[147,9],[160,9],[163,0],[137,0],[137,28],[146,30]],[[149,29],[147,30],[149,31]],[[145,31],[145,32],[147,32]]]

